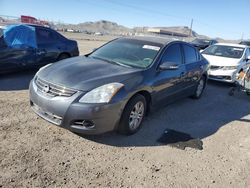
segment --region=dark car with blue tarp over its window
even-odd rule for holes
[[[10,25],[0,37],[0,73],[41,67],[78,56],[77,42],[38,25]]]

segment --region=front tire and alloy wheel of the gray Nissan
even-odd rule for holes
[[[147,102],[144,96],[138,94],[130,99],[123,110],[118,133],[124,135],[135,134],[141,128],[146,108]]]

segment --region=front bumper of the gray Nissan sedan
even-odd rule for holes
[[[101,134],[116,129],[125,106],[122,101],[114,104],[79,103],[83,92],[71,97],[49,97],[37,89],[33,80],[29,91],[31,108],[37,115],[81,134]]]

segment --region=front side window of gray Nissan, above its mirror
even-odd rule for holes
[[[170,45],[163,54],[162,62],[173,62],[177,65],[182,64],[182,54],[179,44]]]

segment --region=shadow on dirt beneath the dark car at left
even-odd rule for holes
[[[0,91],[28,89],[30,80],[32,80],[36,72],[37,69],[0,75]]]

